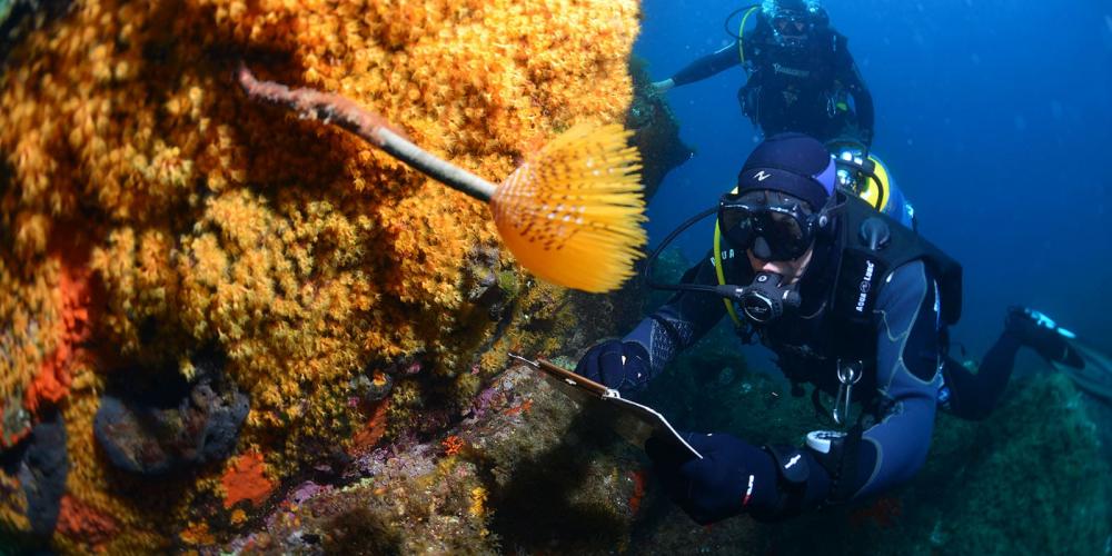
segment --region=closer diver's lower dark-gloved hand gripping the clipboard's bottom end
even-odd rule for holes
[[[653,459],[668,497],[699,525],[742,512],[768,512],[778,500],[776,464],[761,448],[731,435],[684,435],[703,459],[677,454],[663,440],[649,438]]]

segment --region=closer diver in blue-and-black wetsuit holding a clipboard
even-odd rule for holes
[[[834,430],[810,433],[804,446],[687,433],[702,456],[693,457],[656,438],[646,443],[669,497],[701,524],[739,514],[778,520],[891,489],[923,465],[939,408],[967,419],[990,414],[1020,347],[1052,361],[1073,358],[1059,328],[1017,308],[976,374],[951,358],[961,266],[838,189],[837,168],[823,143],[804,135],[758,145],[737,187],[668,236],[645,276],[678,234],[716,214],[709,255],[681,284],[649,280],[676,294],[576,366],[626,397],[728,315],[743,341],[759,339],[777,356],[794,395],[814,386],[812,400]],[[820,393],[833,398],[828,409]]]

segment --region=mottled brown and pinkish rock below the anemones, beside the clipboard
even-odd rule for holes
[[[222,549],[603,554],[628,543],[638,508],[655,499],[636,449],[523,366],[495,377],[447,433],[363,450],[346,486],[301,484],[260,530]]]

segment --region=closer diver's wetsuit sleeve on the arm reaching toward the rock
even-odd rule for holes
[[[681,279],[685,284],[716,286],[714,264],[708,255]],[[679,351],[687,349],[714,327],[726,312],[722,298],[713,294],[679,291],[663,307],[649,315],[633,329],[624,341],[635,341],[645,347],[649,358],[652,379]]]

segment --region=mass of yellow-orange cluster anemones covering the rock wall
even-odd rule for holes
[[[62,361],[72,385],[50,399],[70,445],[54,546],[136,552],[183,533],[220,538],[232,522],[192,509],[224,507],[227,463],[167,479],[176,496],[157,510],[137,499],[149,486],[122,486],[92,434],[115,373],[169,365],[191,378],[189,354],[215,345],[250,397],[235,456],[258,455],[278,485],[367,421],[350,403],[356,375],[419,360],[433,378],[414,385],[440,380],[466,397],[474,373],[504,363],[476,358],[496,326],[460,289],[477,250],[498,254],[493,272],[513,268],[486,206],[344,131],[248,101],[237,60],[262,78],[345,95],[498,181],[574,123],[622,120],[638,9],[75,0],[22,36],[0,67],[0,433],[12,441],[38,419],[18,404],[67,346],[59,285],[83,271],[95,292],[97,353]],[[72,236],[80,240],[62,239]],[[0,519],[26,529],[24,503],[3,484],[12,495],[0,498]],[[475,495],[474,507],[484,499]]]

